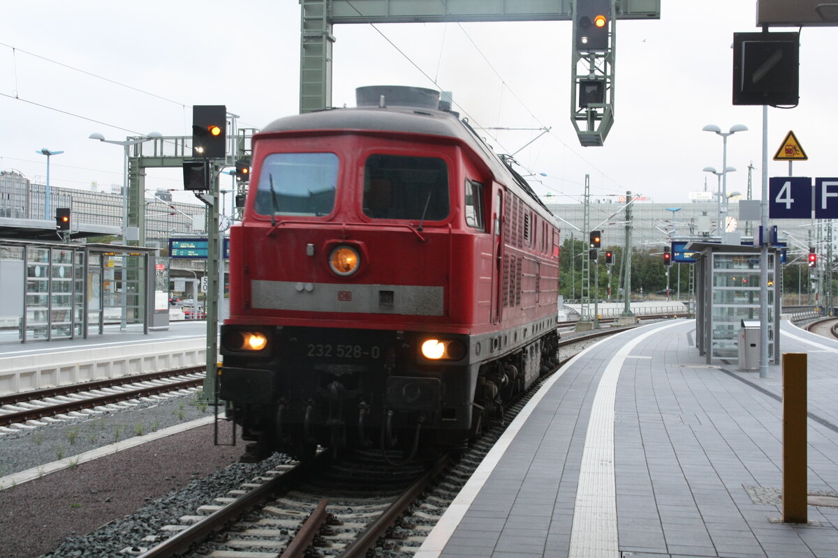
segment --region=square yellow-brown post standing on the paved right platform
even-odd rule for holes
[[[783,354],[783,522],[808,523],[806,353]]]

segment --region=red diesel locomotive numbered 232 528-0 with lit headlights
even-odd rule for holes
[[[253,136],[221,328],[244,460],[463,448],[556,364],[551,212],[437,91],[358,95]]]

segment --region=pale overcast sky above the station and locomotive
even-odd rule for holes
[[[516,158],[539,174],[536,192],[557,202],[578,200],[588,174],[594,198],[630,190],[685,203],[706,179],[716,188],[705,166],[722,168],[722,138],[702,126],[744,124],[749,131],[728,140],[737,172],[727,190],[747,191],[753,161],[760,197],[762,107],[731,104],[732,35],[758,31],[755,2],[662,4],[660,20],[617,23],[615,120],[603,147],[580,146],[570,120],[567,21],[335,26],[333,105],[354,106],[362,85],[416,85],[453,91],[456,108],[479,126],[549,126]],[[192,105],[227,105],[254,128],[299,110],[297,0],[8,0],[3,8],[0,170],[44,182],[46,157],[35,151],[45,147],[65,151],[51,158],[53,186],[110,187],[122,184],[122,148],[88,139],[92,132],[190,135]],[[800,105],[768,111],[769,176],[788,173],[771,157],[790,130],[810,159],[794,164],[795,175],[838,176],[836,37],[835,28],[802,30]],[[501,153],[539,133],[485,132]],[[182,187],[172,170],[149,171],[146,186]]]

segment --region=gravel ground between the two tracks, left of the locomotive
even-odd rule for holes
[[[5,434],[0,466],[4,475],[38,467],[58,453],[70,458],[113,443],[117,435],[132,438],[205,417],[212,409],[189,395]],[[230,423],[221,422],[220,441],[230,437]],[[236,463],[243,451],[241,440],[235,447],[215,446],[209,424],[0,490],[0,556],[125,556],[122,549],[148,545],[144,536],[195,514],[280,460],[275,455]]]

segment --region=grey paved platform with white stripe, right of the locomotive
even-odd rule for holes
[[[782,367],[707,365],[695,335],[695,320],[644,325],[574,357],[416,558],[838,557],[838,342],[781,325],[809,384],[809,523],[787,524]]]

